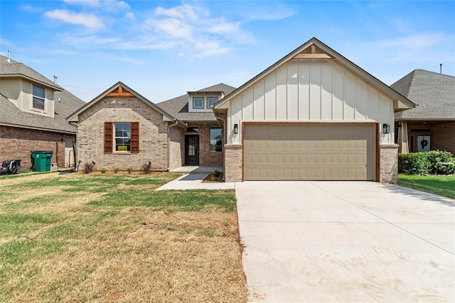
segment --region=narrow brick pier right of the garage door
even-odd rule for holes
[[[398,145],[380,145],[379,182],[396,184],[398,180]]]

